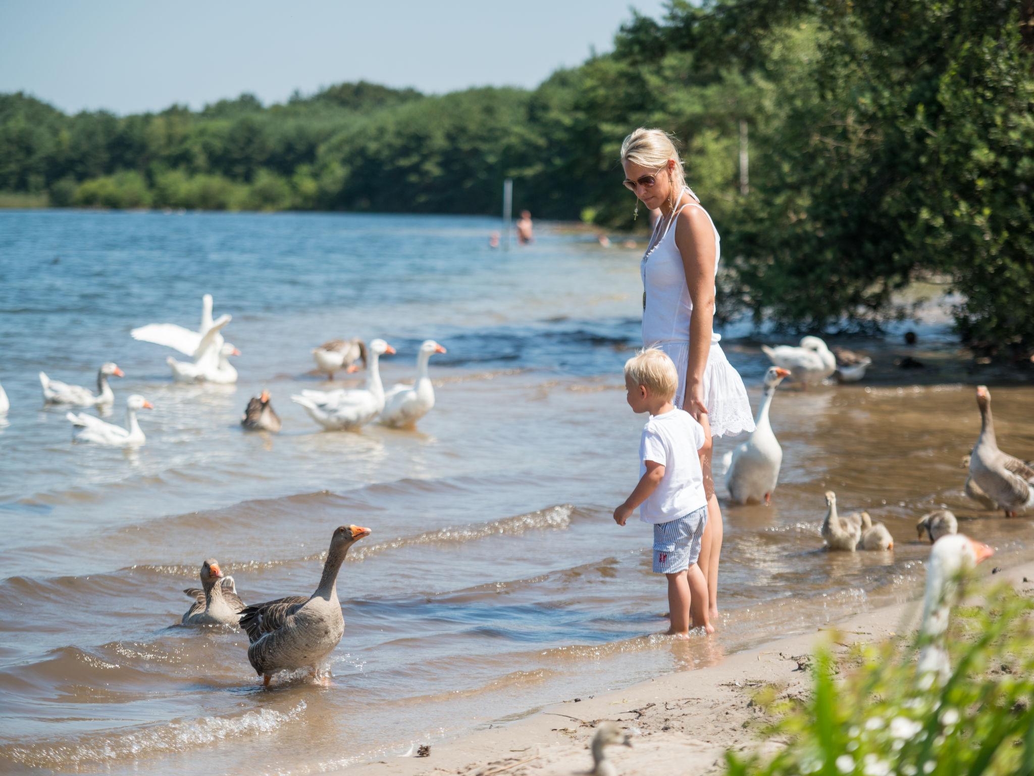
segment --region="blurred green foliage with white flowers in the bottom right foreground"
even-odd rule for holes
[[[1006,776],[1034,773],[1034,601],[1010,587],[960,613],[947,639],[954,671],[924,689],[914,649],[866,648],[837,683],[822,650],[814,691],[769,732],[787,742],[774,757],[726,755],[730,776]]]

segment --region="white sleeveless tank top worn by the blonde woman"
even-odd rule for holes
[[[710,214],[700,205],[699,198],[693,189],[687,186],[685,191],[697,202],[681,205],[672,213],[671,218],[659,218],[653,227],[649,244],[652,246],[643,255],[639,272],[643,280],[643,346],[649,347],[656,342],[690,341],[690,316],[693,312],[693,299],[686,285],[686,269],[682,267],[682,255],[675,245],[675,230],[671,227],[682,208],[697,207],[703,210],[710,221],[714,233],[714,274],[718,274],[718,262],[721,257],[721,243],[718,230]],[[711,334],[711,341],[721,339],[720,334]]]

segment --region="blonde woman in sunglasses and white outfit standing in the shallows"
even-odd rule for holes
[[[672,138],[660,129],[636,129],[621,144],[625,186],[657,214],[642,258],[643,347],[656,347],[675,362],[679,375],[675,406],[704,427],[700,464],[707,495],[707,527],[700,570],[707,578],[710,621],[718,618],[718,563],[722,512],[711,474],[712,437],[754,430],[754,418],[739,374],[726,360],[711,330],[718,230],[700,200],[686,185]],[[639,211],[636,202],[636,213]]]

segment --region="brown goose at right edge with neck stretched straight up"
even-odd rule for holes
[[[970,478],[1007,517],[1015,517],[1016,512],[1034,507],[1034,468],[998,449],[987,386],[977,387],[976,404],[980,436],[970,453]]]

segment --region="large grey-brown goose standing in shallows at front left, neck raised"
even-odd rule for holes
[[[263,685],[268,687],[280,670],[308,667],[314,677],[337,647],[344,634],[337,574],[348,548],[369,535],[370,530],[362,526],[339,526],[331,537],[323,576],[312,595],[278,598],[241,610],[240,626],[248,634],[248,661],[263,678]]]

